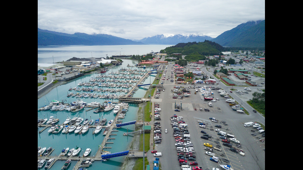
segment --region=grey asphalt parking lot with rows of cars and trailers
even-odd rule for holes
[[[170,73],[171,71],[170,65],[167,68],[167,73]],[[178,117],[183,117],[182,120],[187,124],[186,129],[190,134],[189,141],[193,144],[195,150],[193,155],[195,155],[195,161],[198,163],[198,165],[195,166],[202,167],[203,169],[212,169],[220,168],[220,164],[229,164],[235,170],[265,169],[265,136],[258,133],[256,128],[253,128],[252,126],[244,127],[245,122],[257,121],[254,114],[240,114],[237,113],[237,111],[232,110],[228,103],[225,102],[225,98],[221,97],[217,90],[212,90],[214,98],[219,98],[220,100],[212,102],[213,106],[210,107],[208,105],[209,101],[205,101],[200,92],[194,94],[195,90],[193,88],[190,89],[190,97],[175,99],[173,98],[173,92],[171,92],[171,89],[175,89],[173,88],[175,86],[174,83],[170,82],[170,79],[165,79],[163,85],[165,91],[160,92],[159,99],[154,99],[157,101],[156,103],[160,104],[161,108],[161,120],[156,120],[156,122],[160,122],[161,124],[162,140],[161,143],[155,144],[155,149],[162,153],[162,156],[160,157],[162,169],[181,168],[175,146],[176,135],[173,134],[174,131],[171,125],[171,116],[174,114]],[[232,95],[241,97],[242,94],[236,94],[234,92]],[[245,95],[249,98],[248,94]],[[177,103],[182,106],[180,111],[174,111],[177,109],[175,108]],[[199,108],[203,108],[203,110],[200,111]],[[204,108],[209,109],[209,111],[204,111]],[[212,122],[209,118],[216,118],[218,122]],[[200,127],[199,124],[201,122],[205,124],[205,128]],[[215,127],[216,125],[221,125],[221,128]],[[168,130],[168,133],[163,132],[165,129]],[[232,148],[242,151],[245,155],[242,156],[239,152],[230,151],[230,147],[224,146],[220,135],[217,134],[218,130],[216,131],[216,129],[234,135],[235,138],[240,141],[241,146],[237,147],[237,144],[231,142]],[[202,130],[210,135],[211,138],[202,139],[201,136],[205,134],[201,133]],[[255,130],[255,132],[252,132],[251,130]],[[255,136],[251,135],[253,133]],[[204,143],[209,143],[213,147],[221,149],[221,151],[212,151],[215,156],[219,158],[218,163],[211,161],[211,156],[205,154],[206,150],[204,150]],[[189,162],[192,161],[188,160],[187,163],[189,164]]]

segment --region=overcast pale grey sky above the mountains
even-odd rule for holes
[[[216,38],[265,19],[265,0],[38,0],[38,28],[125,39],[197,34]]]

